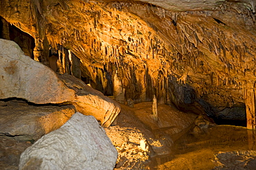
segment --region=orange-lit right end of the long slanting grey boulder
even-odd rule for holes
[[[102,127],[109,127],[118,116],[120,105],[115,100],[68,74],[61,74],[59,78],[67,87],[75,91],[75,100],[72,103],[77,111],[94,116],[101,122]]]

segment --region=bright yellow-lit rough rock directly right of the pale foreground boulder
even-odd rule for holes
[[[105,130],[118,151],[115,169],[143,169],[150,156],[154,156],[154,151],[140,130],[120,126],[111,126]],[[145,149],[140,147],[140,141],[145,142]]]

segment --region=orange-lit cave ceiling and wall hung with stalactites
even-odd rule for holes
[[[247,127],[255,129],[255,6],[254,0],[15,0],[1,1],[0,16],[33,36],[35,60],[50,65],[57,54],[58,72],[82,77],[120,103],[156,95],[184,108],[203,100],[208,114],[246,105]]]

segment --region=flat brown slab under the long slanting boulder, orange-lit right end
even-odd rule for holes
[[[19,140],[38,140],[75,114],[73,105],[33,106],[20,100],[0,101],[0,134]]]

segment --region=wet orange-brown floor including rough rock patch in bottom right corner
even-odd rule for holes
[[[156,156],[149,169],[256,169],[255,131],[217,125],[201,134],[185,134],[172,153]],[[218,154],[219,153],[219,154]]]

